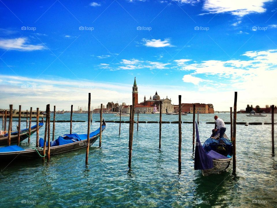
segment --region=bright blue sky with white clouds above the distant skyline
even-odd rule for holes
[[[70,109],[168,96],[277,104],[276,1],[0,2],[0,108]],[[218,102],[216,97],[221,98]]]

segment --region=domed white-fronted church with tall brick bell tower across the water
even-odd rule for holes
[[[132,91],[132,98],[135,98],[135,112],[136,113],[159,113],[159,111],[162,111],[162,113],[172,113],[174,112],[174,105],[171,104],[171,99],[160,99],[160,96],[158,95],[157,91],[154,94],[153,98],[150,96],[148,100],[146,100],[146,97],[144,96],[144,101],[139,103],[138,101],[138,86],[136,84],[136,77],[134,80],[133,85],[133,91]],[[160,102],[162,103],[162,108],[160,109]],[[127,107],[127,106],[126,106]],[[156,107],[156,108],[155,108]],[[128,107],[127,107],[128,108]],[[158,112],[155,112],[155,109],[157,109]],[[128,112],[128,109],[123,109],[123,112]],[[129,112],[130,112],[130,106],[129,106]]]

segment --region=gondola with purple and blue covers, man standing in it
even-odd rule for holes
[[[203,176],[220,174],[228,170],[233,159],[233,145],[226,134],[224,138],[217,135],[207,139],[203,146],[199,139],[198,127],[196,126],[196,147],[194,157],[194,170],[200,170]]]

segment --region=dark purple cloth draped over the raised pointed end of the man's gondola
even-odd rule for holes
[[[200,142],[198,127],[196,122],[195,122],[195,127],[196,127],[196,146],[195,146],[195,155],[194,155],[194,170],[211,169],[214,167],[213,158],[207,155],[205,149],[203,148]]]

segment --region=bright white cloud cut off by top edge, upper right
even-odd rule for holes
[[[242,1],[242,0],[205,0],[203,9],[209,13],[231,13],[235,16],[242,17],[250,13],[263,13],[266,11],[264,8],[265,2],[271,0],[254,0],[254,1]]]

